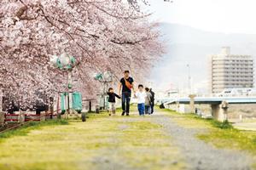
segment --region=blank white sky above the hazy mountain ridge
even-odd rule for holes
[[[148,0],[154,20],[206,31],[256,34],[255,0]],[[171,1],[171,0],[170,0]]]

